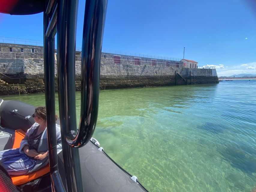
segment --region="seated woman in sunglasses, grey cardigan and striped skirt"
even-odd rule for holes
[[[9,175],[32,173],[49,162],[45,107],[36,107],[32,115],[35,123],[26,132],[20,148],[0,152],[0,160]],[[57,116],[56,116],[57,120]],[[60,126],[56,124],[57,153],[61,152]]]

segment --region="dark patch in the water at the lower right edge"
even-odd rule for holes
[[[226,147],[222,155],[232,167],[244,173],[256,173],[256,150],[252,146],[238,143],[237,146]]]

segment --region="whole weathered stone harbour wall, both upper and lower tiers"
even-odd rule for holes
[[[5,52],[11,46],[13,46],[12,52]],[[23,51],[28,52],[20,52],[21,47]],[[44,55],[42,47],[0,43],[0,48],[0,79],[9,84],[21,83],[21,93],[44,92]],[[31,49],[34,49],[35,52],[29,52]],[[114,62],[114,56],[120,57],[120,64]],[[135,58],[140,59],[139,65],[135,64]],[[166,66],[166,61],[170,63],[168,66]],[[156,64],[156,66],[152,64]],[[181,67],[182,63],[180,61],[102,52],[100,88],[218,83],[215,69]],[[75,73],[76,90],[80,90],[81,52],[76,52]],[[183,78],[176,75],[176,73],[179,73]],[[57,91],[57,61],[55,61],[55,74]],[[17,91],[16,85],[11,87],[11,85],[0,84],[0,95],[17,94]]]

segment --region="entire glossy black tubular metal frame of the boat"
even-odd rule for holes
[[[57,161],[55,35],[62,152],[67,190],[84,191],[78,148],[92,137],[98,116],[100,55],[107,0],[86,0],[81,56],[81,116],[77,130],[75,45],[78,0],[49,0],[44,9],[44,75],[52,190],[65,191]]]

